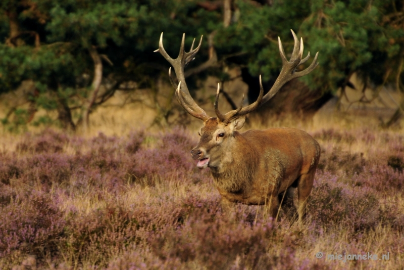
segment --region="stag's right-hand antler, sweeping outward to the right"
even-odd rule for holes
[[[300,38],[300,42],[296,36],[296,34],[292,31],[292,35],[294,38],[294,47],[293,47],[293,52],[292,56],[290,57],[290,60],[287,61],[286,56],[285,56],[285,51],[283,50],[282,42],[280,37],[278,37],[279,41],[279,52],[281,54],[282,58],[282,70],[276,79],[274,85],[270,89],[270,91],[263,97],[263,86],[262,86],[262,81],[261,81],[261,76],[260,76],[260,96],[258,97],[257,101],[248,105],[247,107],[242,108],[242,103],[239,108],[236,110],[232,110],[225,115],[221,114],[218,108],[218,100],[219,100],[219,90],[216,94],[216,101],[215,101],[215,112],[218,118],[224,122],[228,123],[231,121],[231,119],[235,117],[239,117],[241,115],[248,114],[254,110],[256,110],[258,107],[260,107],[262,104],[266,103],[269,101],[278,91],[279,89],[288,81],[294,78],[298,78],[301,76],[305,76],[309,74],[317,65],[317,57],[319,53],[317,52],[316,56],[314,57],[313,62],[310,64],[310,66],[302,71],[296,71],[296,67],[298,67],[301,64],[304,64],[309,58],[310,58],[310,52],[308,53],[307,57],[304,59],[301,59],[303,55],[303,39]],[[244,99],[244,96],[243,96]]]

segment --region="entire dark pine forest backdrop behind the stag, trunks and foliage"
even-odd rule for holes
[[[284,94],[262,110],[313,113],[335,95],[341,100],[347,87],[355,88],[355,77],[361,82],[356,91],[363,93],[358,103],[371,103],[386,87],[396,93],[395,112],[381,123],[390,126],[404,108],[403,25],[400,1],[5,0],[0,4],[0,94],[16,89],[22,94],[3,96],[2,124],[12,131],[32,125],[87,129],[91,113],[116,93],[146,93],[153,124],[184,124],[187,116],[173,102],[174,89],[161,86],[169,81],[169,64],[153,53],[161,32],[171,56],[177,55],[183,33],[186,46],[204,35],[186,70],[192,95],[214,76],[234,108],[239,101],[226,95],[224,85],[238,78],[254,102],[258,76],[268,91],[279,74],[277,37],[290,52],[293,29],[304,37],[306,52],[320,52],[320,66],[286,85]],[[234,69],[236,76],[229,72]],[[288,94],[293,91],[297,94]],[[205,99],[212,103],[215,91],[210,93]]]

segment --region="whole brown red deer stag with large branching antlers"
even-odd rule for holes
[[[282,69],[275,83],[264,96],[260,75],[260,94],[258,99],[243,107],[244,95],[240,106],[225,114],[219,111],[218,84],[214,109],[216,117],[210,117],[191,97],[185,82],[184,67],[194,59],[198,46],[193,49],[193,39],[189,52],[184,50],[185,33],[182,36],[180,52],[177,59],[172,59],[164,49],[163,33],[159,49],[163,57],[174,67],[178,84],[174,81],[169,68],[169,78],[176,88],[175,96],[183,109],[191,116],[203,121],[198,134],[199,143],[191,150],[196,166],[200,169],[210,168],[215,187],[221,196],[223,213],[229,213],[235,204],[264,205],[264,213],[274,220],[279,220],[282,208],[286,216],[294,222],[305,220],[307,200],[313,188],[314,175],[320,159],[320,145],[305,131],[296,128],[269,128],[266,130],[247,130],[240,133],[245,117],[270,100],[289,80],[309,74],[318,65],[314,57],[310,66],[298,71],[296,68],[310,58],[302,59],[303,40],[294,38],[294,47],[289,60],[285,56],[280,37],[279,52]],[[293,203],[297,188],[297,210]]]

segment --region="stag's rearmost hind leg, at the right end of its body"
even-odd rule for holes
[[[297,213],[299,215],[299,223],[302,223],[306,217],[307,200],[313,188],[315,173],[316,167],[313,167],[308,173],[302,174],[297,183]]]

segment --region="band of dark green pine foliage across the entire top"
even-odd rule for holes
[[[182,33],[187,48],[194,37],[216,33],[220,65],[209,72],[223,80],[223,65],[274,80],[281,68],[277,37],[290,54],[293,29],[304,38],[305,52],[320,52],[320,66],[301,78],[311,88],[334,92],[355,72],[371,83],[397,83],[404,58],[402,7],[383,0],[274,0],[271,6],[235,0],[232,23],[224,27],[221,6],[205,9],[196,0],[2,1],[0,94],[29,79],[39,92],[30,98],[36,107],[80,108],[94,74],[92,47],[104,56],[104,83],[111,91],[129,80],[150,87],[169,66],[153,53],[161,32],[173,57]],[[207,43],[205,38],[191,65],[206,61]]]

